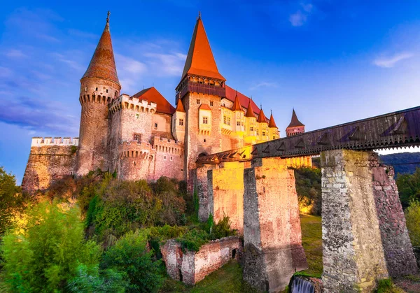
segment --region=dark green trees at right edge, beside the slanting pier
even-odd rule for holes
[[[396,183],[402,208],[407,208],[410,201],[420,201],[420,168],[412,175],[398,174]]]

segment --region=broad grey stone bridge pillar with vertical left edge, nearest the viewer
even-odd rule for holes
[[[325,292],[370,292],[388,277],[370,152],[321,152]]]

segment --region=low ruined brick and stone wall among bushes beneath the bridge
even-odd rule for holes
[[[202,245],[198,252],[183,252],[181,244],[173,239],[160,248],[168,275],[187,285],[200,282],[209,273],[227,264],[230,259],[237,259],[241,250],[241,240],[237,236],[211,241]]]

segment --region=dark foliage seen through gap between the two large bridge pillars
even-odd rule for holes
[[[321,215],[321,169],[302,167],[294,170],[300,212]]]

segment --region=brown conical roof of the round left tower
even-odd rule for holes
[[[97,48],[94,50],[92,59],[90,60],[90,64],[87,67],[83,78],[103,78],[120,85],[117,76],[116,61],[113,55],[111,33],[109,32],[109,14],[110,13],[108,12],[104,32],[99,39]]]

